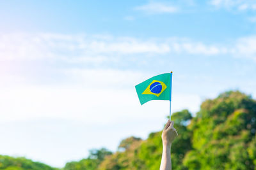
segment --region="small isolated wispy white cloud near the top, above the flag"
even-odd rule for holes
[[[145,11],[147,13],[176,13],[179,9],[176,6],[171,6],[164,3],[150,2],[143,6],[137,6],[135,10]]]

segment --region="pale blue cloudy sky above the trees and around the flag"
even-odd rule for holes
[[[173,71],[172,112],[256,98],[256,2],[1,1],[0,154],[55,167],[161,131],[168,101],[134,86]]]

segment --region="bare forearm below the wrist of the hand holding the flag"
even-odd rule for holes
[[[163,153],[160,170],[172,170],[171,145],[163,145]]]

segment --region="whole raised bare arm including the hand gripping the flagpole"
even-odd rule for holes
[[[173,127],[173,122],[168,120],[162,133],[163,140],[163,153],[160,170],[172,170],[172,160],[171,160],[171,147],[173,139],[178,136],[176,129]]]

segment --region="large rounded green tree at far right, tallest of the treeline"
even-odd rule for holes
[[[254,169],[255,111],[255,100],[237,91],[202,103],[189,125],[193,148],[184,165],[189,169]]]

